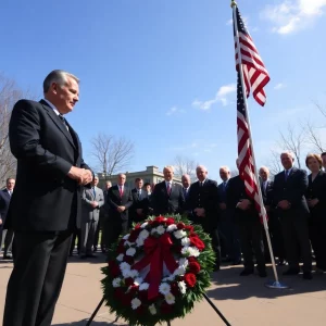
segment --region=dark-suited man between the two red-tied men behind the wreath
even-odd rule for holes
[[[149,213],[149,199],[146,190],[142,189],[143,180],[136,178],[135,188],[131,190],[133,205],[129,212],[130,226],[133,223],[142,222]]]

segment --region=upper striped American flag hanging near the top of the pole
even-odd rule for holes
[[[239,33],[239,45],[241,52],[241,64],[243,70],[243,82],[246,87],[247,98],[250,96],[250,90],[253,93],[253,98],[261,105],[266,102],[266,95],[264,87],[269,82],[268,72],[250,37],[248,29],[241,18],[239,9],[236,8],[237,27]],[[238,45],[236,37],[236,24],[234,22],[234,35],[235,35],[235,47],[236,47],[236,66],[239,71],[239,54]]]

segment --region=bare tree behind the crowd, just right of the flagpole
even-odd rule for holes
[[[293,153],[298,167],[301,168],[301,153],[306,143],[306,134],[303,127],[299,130],[288,124],[288,128],[286,133],[279,131],[280,140],[278,141],[278,146],[287,151]]]

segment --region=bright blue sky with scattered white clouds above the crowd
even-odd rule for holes
[[[326,1],[238,4],[272,78],[265,108],[249,101],[261,165],[288,122],[323,123],[313,101],[326,103]],[[103,131],[135,141],[128,171],[162,170],[178,154],[205,164],[213,178],[221,165],[235,167],[228,1],[4,0],[0,12],[0,70],[8,77],[38,95],[54,68],[82,79],[79,103],[67,120],[85,161],[93,163],[90,139]]]

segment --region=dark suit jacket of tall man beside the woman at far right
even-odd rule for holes
[[[276,208],[278,202],[287,200],[291,203],[289,210],[276,209],[276,214],[281,218],[284,216],[306,216],[309,209],[304,195],[308,188],[306,172],[292,167],[287,180],[285,179],[285,172],[278,173],[274,178],[273,190],[273,205]]]

